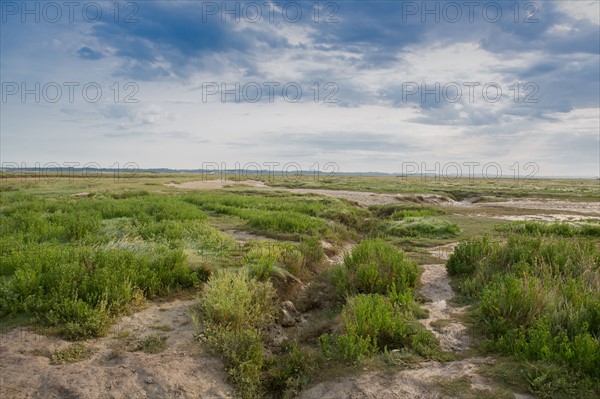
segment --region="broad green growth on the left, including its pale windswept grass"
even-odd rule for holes
[[[64,337],[104,335],[113,318],[196,286],[186,253],[230,239],[178,197],[16,193],[0,208],[0,317],[28,313]]]

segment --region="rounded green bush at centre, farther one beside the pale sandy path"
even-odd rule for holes
[[[387,294],[392,287],[405,291],[417,282],[417,264],[406,254],[380,239],[366,239],[344,257],[337,274],[342,294]]]

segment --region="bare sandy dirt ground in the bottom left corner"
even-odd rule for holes
[[[72,342],[23,328],[8,332],[0,336],[0,397],[232,398],[222,363],[193,339],[187,316],[193,303],[150,303],[121,318],[107,337],[84,342],[92,354],[77,363],[50,360],[50,353]],[[157,333],[168,336],[163,352],[130,352],[139,339]]]

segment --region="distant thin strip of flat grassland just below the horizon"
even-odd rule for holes
[[[186,182],[213,178],[200,174],[147,173],[137,172],[128,176],[114,174],[95,175],[84,178],[80,173],[67,177],[65,174],[49,173],[40,177],[35,173],[0,172],[0,188],[12,193],[27,190],[37,194],[74,194],[97,192],[109,188],[113,192],[161,191],[176,192],[178,189],[166,187],[170,182]],[[214,177],[215,179],[218,176]],[[236,175],[224,176],[235,180]],[[318,188],[333,190],[355,190],[376,193],[427,193],[452,197],[456,200],[477,196],[499,198],[540,197],[557,199],[581,199],[597,201],[599,189],[597,179],[433,179],[420,176],[321,176],[312,174],[295,176],[294,179],[279,175],[265,175],[259,178],[271,186],[294,188]]]

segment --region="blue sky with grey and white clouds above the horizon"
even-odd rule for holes
[[[0,0],[12,167],[600,175],[600,2]]]

